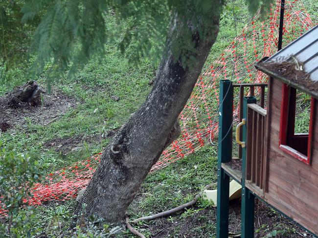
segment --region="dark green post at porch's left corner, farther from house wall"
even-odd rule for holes
[[[216,212],[216,237],[228,237],[229,177],[222,163],[232,158],[233,86],[230,80],[220,81],[218,194]]]

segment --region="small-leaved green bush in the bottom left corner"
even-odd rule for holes
[[[37,164],[28,155],[2,147],[0,142],[0,204],[7,210],[7,223],[0,224],[0,231],[9,237],[32,237],[37,232],[32,208],[30,212],[21,209],[40,178]]]

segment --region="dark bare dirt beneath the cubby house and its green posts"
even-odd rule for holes
[[[199,209],[199,207],[194,207]],[[181,218],[182,213],[177,213],[173,218],[160,218],[155,222],[147,222],[141,226],[151,232],[152,238],[166,237],[210,237],[211,226],[216,225],[216,208],[206,208],[193,214],[189,218]],[[307,231],[301,229],[288,218],[275,212],[265,203],[255,200],[254,238],[265,238],[276,230],[276,238],[314,238]],[[141,229],[138,229],[141,231]],[[205,230],[208,229],[208,230]],[[141,231],[142,232],[142,231]],[[241,200],[231,201],[229,204],[229,237],[240,237],[241,233]],[[215,233],[214,233],[215,235]]]

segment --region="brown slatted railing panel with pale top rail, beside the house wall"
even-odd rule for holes
[[[263,189],[267,181],[266,110],[250,103],[247,114],[246,180]]]

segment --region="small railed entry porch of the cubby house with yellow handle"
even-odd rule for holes
[[[264,109],[267,103],[266,87],[266,83],[231,84],[229,80],[220,83],[220,99],[223,103],[220,105],[219,113],[221,142],[218,154],[222,155],[218,162],[221,167],[219,169],[239,183],[245,183],[246,180],[250,186],[259,190],[260,194],[266,192],[267,187],[266,109]],[[255,92],[257,90],[256,95],[254,90]],[[234,98],[234,94],[239,97]],[[240,123],[237,124],[235,131],[237,142],[233,142],[232,134],[228,133],[232,131],[234,120],[233,111],[229,109],[236,106],[239,106],[239,115],[236,119],[239,119]],[[243,135],[240,137],[240,134]],[[233,153],[233,148],[240,148],[240,151],[244,148],[239,158],[237,152]]]

